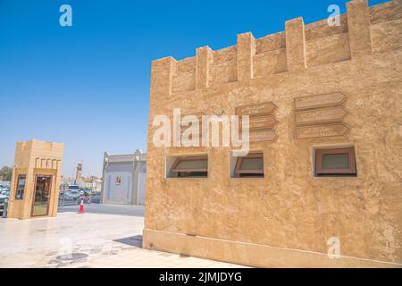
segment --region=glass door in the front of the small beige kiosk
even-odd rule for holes
[[[32,206],[32,216],[47,214],[49,210],[51,182],[52,176],[37,176],[35,182],[35,197]]]

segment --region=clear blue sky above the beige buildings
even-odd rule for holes
[[[59,25],[61,4],[72,27]],[[34,138],[65,144],[63,174],[82,160],[100,175],[104,151],[146,150],[151,60],[319,21],[330,4],[345,13],[339,0],[0,0],[0,166]]]

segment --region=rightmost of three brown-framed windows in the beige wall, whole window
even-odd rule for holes
[[[355,148],[315,150],[315,176],[356,176]]]

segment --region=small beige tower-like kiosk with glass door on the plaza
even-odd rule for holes
[[[8,217],[57,215],[62,159],[62,143],[17,142]]]

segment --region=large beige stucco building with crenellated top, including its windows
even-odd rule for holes
[[[263,267],[400,267],[402,1],[355,0],[339,25],[284,28],[153,61],[144,248]],[[156,116],[173,122],[175,108],[249,115],[249,156],[174,136],[156,145],[154,120],[167,122]]]

